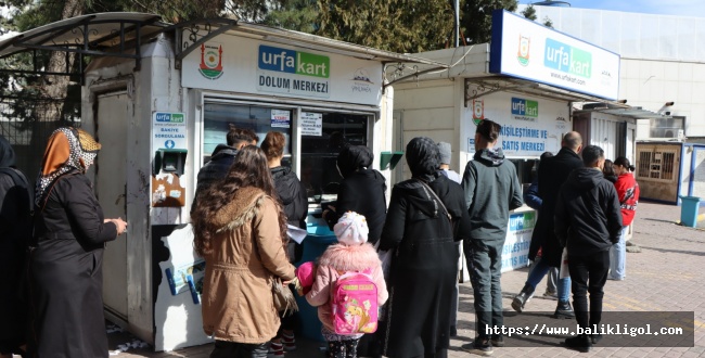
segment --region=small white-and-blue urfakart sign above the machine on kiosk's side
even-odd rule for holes
[[[152,113],[152,153],[159,149],[188,149],[183,113]]]

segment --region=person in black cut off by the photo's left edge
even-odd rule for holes
[[[25,344],[25,253],[31,235],[31,194],[27,178],[15,167],[15,152],[0,136],[0,358],[21,353]]]

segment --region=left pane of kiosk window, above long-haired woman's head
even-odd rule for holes
[[[262,107],[254,105],[207,103],[203,125],[203,163],[210,159],[218,144],[226,144],[230,125],[252,129],[259,137],[257,145],[270,130],[280,131],[286,137],[284,162],[291,162],[292,110]],[[289,163],[284,163],[285,165]]]

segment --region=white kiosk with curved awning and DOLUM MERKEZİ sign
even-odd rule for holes
[[[26,49],[80,54],[73,77],[82,84],[80,126],[103,145],[95,191],[106,217],[129,222],[127,235],[106,246],[105,309],[156,350],[211,342],[189,212],[196,174],[230,125],[260,139],[284,133],[285,162],[306,186],[316,220],[320,201],[335,197],[329,184],[339,181],[342,144],[371,148],[377,169],[389,162],[386,73],[408,74],[405,63],[447,67],[232,20],[169,25],[139,13],[80,16],[0,41],[0,56]]]

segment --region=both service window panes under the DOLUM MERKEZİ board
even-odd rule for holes
[[[294,120],[299,118],[298,122]],[[368,145],[373,115],[331,112],[323,108],[299,110],[266,105],[206,102],[204,106],[203,163],[218,144],[226,143],[230,125],[254,130],[261,144],[270,130],[286,137],[282,165],[292,166],[293,156],[300,163],[296,172],[309,203],[334,201],[343,180],[336,167],[337,155],[345,145]],[[294,153],[294,124],[300,127],[300,153]],[[296,169],[296,168],[294,168]]]

